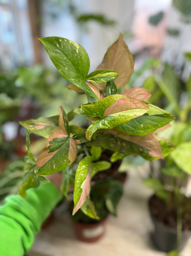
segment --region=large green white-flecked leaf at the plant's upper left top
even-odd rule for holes
[[[62,37],[42,37],[39,40],[43,43],[54,66],[61,75],[68,82],[97,99],[95,93],[85,83],[90,68],[90,60],[86,50],[76,42]]]

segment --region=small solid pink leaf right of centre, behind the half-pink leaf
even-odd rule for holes
[[[142,87],[130,88],[125,90],[124,93],[121,93],[121,94],[135,98],[135,99],[145,100],[145,101],[148,101],[149,98],[151,97],[151,93]]]

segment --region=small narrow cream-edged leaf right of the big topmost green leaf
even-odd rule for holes
[[[86,80],[90,80],[91,82],[103,84],[110,80],[115,79],[116,77],[118,77],[118,72],[105,69],[105,70],[96,70],[96,71],[90,73],[86,77]]]

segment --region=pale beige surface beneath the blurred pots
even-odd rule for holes
[[[141,184],[134,171],[130,171],[124,189],[118,217],[109,217],[106,234],[100,241],[91,244],[78,241],[70,216],[60,210],[53,224],[37,235],[27,256],[166,255],[157,251],[149,238],[152,223],[147,210],[147,198],[152,192]],[[191,239],[182,251],[182,256],[191,256]]]

